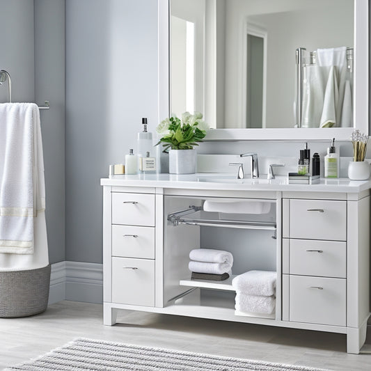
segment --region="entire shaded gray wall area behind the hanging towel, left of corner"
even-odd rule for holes
[[[41,111],[49,261],[65,260],[64,0],[0,0],[0,69],[12,78],[13,102],[49,100]],[[0,102],[8,99],[0,86]]]

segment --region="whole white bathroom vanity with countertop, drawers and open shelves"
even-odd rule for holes
[[[370,181],[200,173],[101,184],[104,324],[118,310],[141,310],[345,333],[347,352],[358,354],[370,315]],[[205,212],[205,200],[259,201],[265,212]],[[230,251],[232,277],[191,280],[194,248]],[[277,272],[274,315],[235,312],[231,280],[252,269]]]

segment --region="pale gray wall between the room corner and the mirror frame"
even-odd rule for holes
[[[66,0],[66,260],[102,262],[109,164],[157,121],[157,1]]]

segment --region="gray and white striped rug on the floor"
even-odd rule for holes
[[[33,361],[6,370],[320,371],[318,368],[210,356],[85,338],[74,340]]]

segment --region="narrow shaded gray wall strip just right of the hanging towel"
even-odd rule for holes
[[[65,0],[35,0],[35,102],[41,111],[51,263],[65,260]]]

